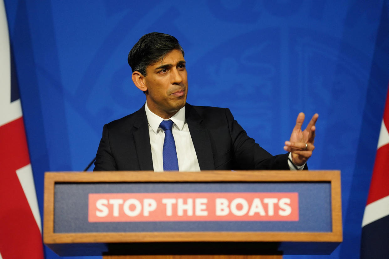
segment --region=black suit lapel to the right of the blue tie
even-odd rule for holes
[[[214,155],[203,119],[190,104],[185,105],[185,117],[195,146],[200,170],[215,170]]]

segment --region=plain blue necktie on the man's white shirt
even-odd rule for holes
[[[163,170],[178,171],[177,151],[175,150],[175,142],[172,133],[172,120],[163,120],[159,127],[165,131],[165,140],[163,141]]]

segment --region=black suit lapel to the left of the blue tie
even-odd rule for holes
[[[138,117],[133,125],[133,137],[138,156],[140,170],[154,170],[152,165],[149,124],[145,112],[145,106],[138,111]]]

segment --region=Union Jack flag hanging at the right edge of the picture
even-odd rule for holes
[[[389,92],[362,220],[361,259],[389,258]]]

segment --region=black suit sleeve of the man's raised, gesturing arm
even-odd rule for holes
[[[272,156],[234,120],[226,109],[226,118],[233,143],[233,165],[237,170],[289,170],[288,154]]]

